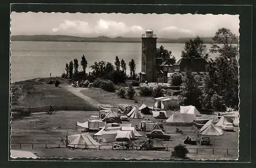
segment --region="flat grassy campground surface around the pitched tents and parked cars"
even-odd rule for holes
[[[114,109],[114,111],[116,111]],[[172,115],[173,111],[166,111],[167,117]],[[32,149],[31,145],[22,145],[21,150],[29,150],[37,154],[37,156],[44,157],[62,157],[62,158],[145,158],[145,159],[169,159],[170,151],[172,147],[175,147],[183,140],[190,136],[192,139],[197,137],[196,130],[194,127],[178,127],[183,131],[183,134],[176,133],[176,127],[170,126],[168,123],[163,123],[165,133],[171,135],[171,140],[163,140],[165,147],[169,148],[169,151],[137,151],[137,150],[112,150],[112,149],[69,149],[69,148],[45,148],[45,143],[60,143],[61,138],[68,135],[80,134],[83,128],[76,127],[76,122],[86,122],[91,115],[99,115],[99,111],[57,111],[53,114],[48,113],[33,113],[23,119],[17,119],[11,122],[11,148],[19,150],[19,145],[16,143],[42,143],[41,145],[34,145]],[[165,119],[155,119],[152,115],[144,115],[143,119],[129,118],[129,122],[132,127],[135,124],[139,124],[144,119],[151,119],[152,121],[164,121]],[[212,115],[202,115],[201,118],[210,118]],[[138,137],[136,140],[132,140],[134,145],[142,145],[146,141],[145,132],[139,132],[143,137]],[[93,136],[95,133],[90,133]],[[190,154],[190,159],[237,159],[238,158],[238,127],[234,127],[234,132],[224,132],[222,136],[209,136],[211,146],[192,146],[186,145]],[[115,145],[120,142],[103,143],[102,145]],[[57,145],[55,145],[56,147]],[[65,145],[62,145],[65,147]],[[54,146],[52,146],[54,147]],[[192,149],[194,148],[194,149]],[[198,148],[198,154],[196,153]],[[204,148],[204,149],[203,149]],[[208,149],[205,149],[208,148]],[[214,155],[212,149],[215,149]],[[226,155],[226,149],[229,150]]]

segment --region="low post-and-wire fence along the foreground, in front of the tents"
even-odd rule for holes
[[[125,145],[77,145],[65,143],[23,143],[12,142],[12,149],[60,149],[60,148],[79,148],[79,149],[92,149],[92,150],[143,150],[141,146],[125,146]],[[165,147],[161,151],[172,151],[174,147]],[[225,149],[225,148],[187,148],[190,154],[201,155],[238,155],[238,149]],[[154,149],[153,149],[154,150]],[[158,150],[154,150],[158,151]]]

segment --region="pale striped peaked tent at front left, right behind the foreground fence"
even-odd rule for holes
[[[100,146],[89,133],[68,136],[68,144],[68,147],[74,148],[98,148]]]

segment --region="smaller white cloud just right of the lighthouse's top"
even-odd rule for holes
[[[189,30],[189,29],[182,29],[182,28],[177,28],[175,26],[169,26],[169,27],[165,27],[160,29],[160,34],[168,37],[195,37],[196,34]]]

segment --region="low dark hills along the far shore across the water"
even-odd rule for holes
[[[185,43],[193,38],[158,38],[159,43]],[[213,42],[211,37],[202,37],[204,43]],[[65,35],[16,35],[11,36],[11,41],[67,41],[67,42],[141,42],[141,38],[137,37],[116,37],[110,38],[106,36],[99,37],[75,37]],[[238,40],[236,41],[238,43]]]

